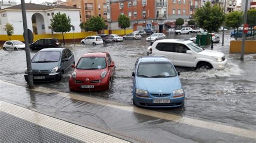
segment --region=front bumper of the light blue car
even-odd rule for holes
[[[153,103],[153,99],[170,99],[170,103]],[[185,96],[178,97],[178,98],[145,98],[145,97],[138,97],[137,95],[133,95],[134,104],[138,106],[143,106],[147,108],[173,108],[182,106],[185,101]]]

